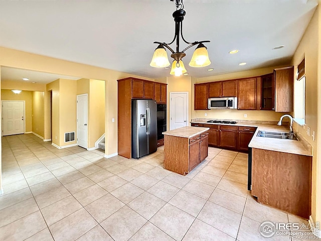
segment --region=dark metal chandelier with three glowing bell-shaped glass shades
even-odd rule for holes
[[[169,49],[172,54],[171,57],[174,59],[172,63],[171,74],[175,76],[181,76],[186,73],[187,70],[184,67],[184,63],[182,58],[186,56],[185,51],[194,45],[198,45],[194,51],[191,62],[189,65],[191,67],[205,67],[211,64],[209,59],[209,55],[207,52],[207,48],[203,43],[207,43],[210,41],[195,41],[193,43],[187,42],[183,37],[183,20],[186,14],[184,10],[183,0],[171,0],[176,2],[176,11],[173,13],[174,21],[175,21],[175,36],[171,43],[162,43],[162,42],[154,42],[154,44],[158,44],[158,47],[155,49],[155,52],[152,56],[150,66],[156,68],[164,68],[170,65],[166,49]],[[189,46],[180,51],[180,36],[182,40],[187,43]],[[176,51],[174,51],[169,45],[173,44],[176,40]]]

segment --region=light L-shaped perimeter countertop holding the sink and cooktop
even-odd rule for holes
[[[312,146],[309,145],[300,136],[296,135],[298,140],[287,140],[287,139],[275,139],[275,138],[265,138],[257,137],[259,131],[272,131],[272,132],[289,132],[288,126],[277,126],[277,122],[263,122],[263,121],[237,121],[237,124],[214,124],[207,123],[210,119],[192,119],[191,123],[199,124],[211,124],[211,125],[228,125],[228,126],[248,126],[248,127],[257,127],[254,136],[249,143],[249,147],[264,149],[276,152],[291,153],[304,156],[312,156]],[[229,120],[234,121],[234,120]],[[294,134],[295,130],[294,130]]]

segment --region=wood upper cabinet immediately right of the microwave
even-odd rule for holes
[[[256,109],[256,78],[238,80],[237,109]]]

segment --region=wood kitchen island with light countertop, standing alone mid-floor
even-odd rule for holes
[[[209,128],[182,127],[164,135],[164,168],[186,175],[208,156]]]

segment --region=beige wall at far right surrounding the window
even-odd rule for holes
[[[321,221],[321,10],[317,7],[314,15],[294,53],[292,65],[297,66],[305,57],[305,126],[295,124],[294,131],[300,133],[313,146],[312,160],[312,217]],[[318,101],[316,101],[318,100]],[[315,131],[317,139],[307,136]]]

